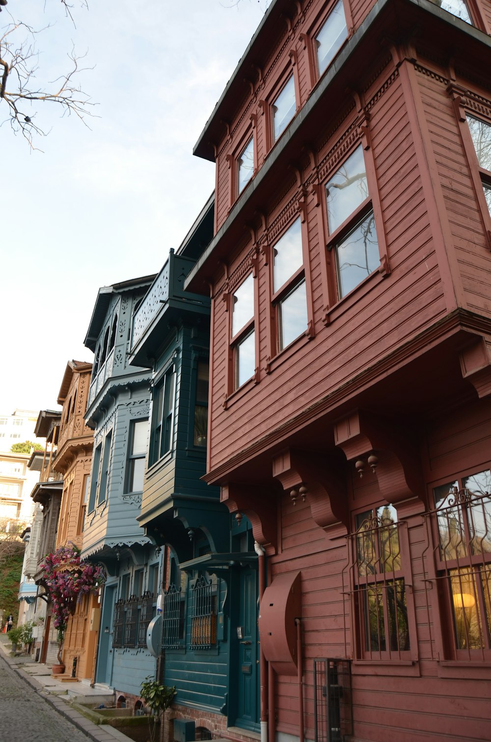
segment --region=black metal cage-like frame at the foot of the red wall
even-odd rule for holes
[[[343,742],[353,733],[351,660],[314,660],[315,742]]]

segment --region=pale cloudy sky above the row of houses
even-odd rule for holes
[[[56,409],[67,361],[93,360],[99,287],[159,272],[182,242],[214,188],[193,146],[268,0],[72,3],[75,26],[59,0],[0,14],[0,28],[41,30],[40,87],[72,47],[86,54],[79,82],[96,104],[88,126],[38,104],[29,115],[49,134],[35,151],[0,105],[0,413]]]

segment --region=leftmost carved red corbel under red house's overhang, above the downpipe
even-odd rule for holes
[[[277,487],[271,485],[244,485],[234,482],[223,485],[220,499],[228,510],[243,513],[252,525],[252,533],[266,554],[277,551]]]

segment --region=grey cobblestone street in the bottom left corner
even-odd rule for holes
[[[0,655],[0,740],[87,742],[89,739],[22,680]]]

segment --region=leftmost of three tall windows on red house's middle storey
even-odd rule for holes
[[[254,376],[256,345],[254,335],[254,278],[249,274],[232,294],[232,347],[235,388]]]

